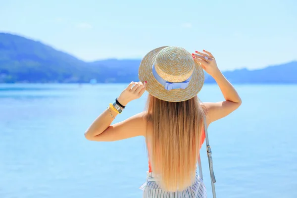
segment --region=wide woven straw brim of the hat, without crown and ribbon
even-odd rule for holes
[[[196,63],[192,74],[192,79],[186,89],[172,89],[170,91],[166,90],[163,85],[161,85],[152,74],[152,65],[155,61],[158,52],[168,46],[153,49],[145,55],[142,59],[138,77],[139,80],[144,82],[147,81],[147,88],[149,94],[152,96],[170,102],[179,102],[192,99],[197,96],[201,90],[204,83],[204,72],[202,67]]]

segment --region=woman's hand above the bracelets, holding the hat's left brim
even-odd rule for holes
[[[129,86],[122,91],[118,101],[126,106],[126,104],[134,99],[139,99],[146,91],[147,82],[131,82]]]

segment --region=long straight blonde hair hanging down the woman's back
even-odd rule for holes
[[[205,109],[197,96],[168,102],[148,95],[146,110],[152,127],[146,136],[152,172],[160,177],[162,189],[184,190],[195,181]]]

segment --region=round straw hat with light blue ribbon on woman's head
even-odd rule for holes
[[[139,66],[140,81],[147,81],[147,91],[152,96],[170,102],[192,99],[204,83],[202,67],[192,54],[180,47],[153,49]]]

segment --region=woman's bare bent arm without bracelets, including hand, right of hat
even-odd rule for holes
[[[208,51],[204,50],[204,52],[205,53],[196,51],[197,54],[194,56],[194,59],[214,78],[225,98],[225,101],[205,102],[202,104],[207,108],[207,122],[210,124],[215,120],[229,115],[241,105],[242,101],[234,87],[218,69],[213,55]],[[205,56],[208,59],[205,59]]]

